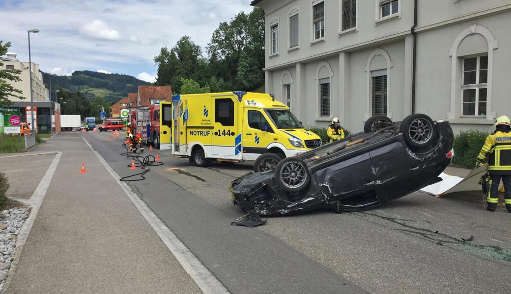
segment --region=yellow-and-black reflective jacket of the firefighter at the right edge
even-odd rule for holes
[[[511,174],[511,132],[496,131],[486,137],[477,160],[483,161],[486,156],[489,171]]]

